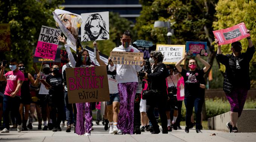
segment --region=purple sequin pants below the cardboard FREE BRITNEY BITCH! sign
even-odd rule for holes
[[[76,134],[84,135],[85,133],[91,133],[93,118],[90,103],[76,103],[76,110]]]

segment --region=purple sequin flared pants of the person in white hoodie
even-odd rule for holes
[[[123,134],[133,134],[134,98],[138,82],[119,83],[117,86],[120,98],[117,128]]]

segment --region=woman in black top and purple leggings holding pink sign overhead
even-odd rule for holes
[[[246,33],[250,33],[250,31],[246,30]],[[216,54],[216,59],[226,67],[223,90],[231,106],[230,122],[226,124],[230,133],[238,132],[236,123],[241,116],[247,92],[251,86],[249,63],[253,58],[255,48],[250,36],[247,37],[247,40],[248,48],[245,53],[241,53],[242,45],[240,42],[233,42],[231,44],[232,54],[223,55],[220,45]],[[215,43],[219,44],[219,41],[215,39]]]

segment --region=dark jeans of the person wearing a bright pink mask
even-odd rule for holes
[[[196,116],[195,129],[200,129],[201,112],[202,112],[202,107],[204,103],[204,98],[189,96],[184,98],[184,103],[186,106],[186,126],[190,126],[191,124],[191,116],[193,114],[193,108],[195,106],[195,116]]]

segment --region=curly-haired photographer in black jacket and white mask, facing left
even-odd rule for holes
[[[146,112],[153,126],[152,134],[160,133],[157,120],[155,119],[155,115],[153,113],[155,107],[158,108],[161,117],[161,124],[163,129],[162,133],[168,133],[167,116],[165,113],[168,96],[165,79],[167,76],[169,76],[169,71],[167,70],[165,64],[162,63],[163,58],[164,55],[160,51],[152,51],[149,58],[149,62],[152,64],[152,70],[149,74],[145,72],[146,75],[144,76],[145,79],[151,79],[151,89],[158,91],[158,93],[154,94],[152,98],[146,99]]]

